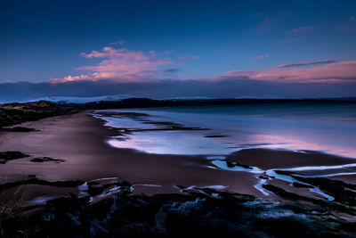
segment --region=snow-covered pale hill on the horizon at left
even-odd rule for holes
[[[132,95],[127,94],[116,94],[116,95],[105,95],[105,96],[93,96],[93,97],[73,97],[73,96],[46,96],[31,100],[28,102],[38,102],[47,101],[51,103],[62,103],[62,104],[82,104],[82,103],[99,103],[99,102],[119,102],[127,98],[133,98]]]

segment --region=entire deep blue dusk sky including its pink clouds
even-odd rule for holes
[[[356,1],[0,2],[0,102],[356,96]]]

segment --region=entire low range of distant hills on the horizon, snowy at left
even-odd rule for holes
[[[61,106],[77,108],[146,108],[166,106],[200,105],[239,105],[251,103],[356,103],[356,98],[317,98],[317,99],[255,99],[255,98],[209,98],[174,97],[166,99],[139,98],[127,94],[104,95],[95,97],[48,96],[31,100],[28,103],[46,101]]]

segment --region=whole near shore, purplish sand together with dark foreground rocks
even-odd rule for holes
[[[321,152],[245,149],[222,162],[227,168],[237,163],[242,168],[258,165],[267,169],[263,174],[222,169],[206,156],[112,147],[106,140],[119,135],[118,130],[104,126],[105,121],[92,112],[15,125],[36,129],[28,132],[0,132],[0,152],[28,155],[0,164],[0,201],[4,199],[0,208],[16,201],[12,194],[26,195],[18,203],[10,202],[11,211],[0,216],[1,234],[12,237],[20,230],[29,237],[64,237],[77,231],[92,237],[171,237],[182,234],[182,227],[207,237],[241,232],[247,237],[356,234],[354,176],[299,178],[315,185],[314,190],[320,187],[335,196],[329,200],[310,193],[305,184],[270,180],[266,173],[293,179],[298,174],[288,168],[338,166],[354,163],[353,159]],[[267,180],[261,187],[271,193],[256,189],[257,183]]]

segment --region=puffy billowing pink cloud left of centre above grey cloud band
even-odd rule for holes
[[[182,57],[175,61],[161,58],[158,53],[150,51],[149,53],[141,51],[130,51],[125,48],[103,47],[101,51],[92,51],[91,53],[81,53],[81,56],[87,59],[102,59],[96,65],[84,66],[77,70],[86,70],[88,73],[77,76],[69,75],[64,78],[53,78],[52,83],[63,83],[69,81],[91,80],[98,81],[102,79],[114,80],[117,82],[141,82],[155,81],[155,75],[159,68],[168,64],[183,64],[193,57]]]

